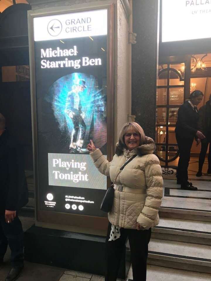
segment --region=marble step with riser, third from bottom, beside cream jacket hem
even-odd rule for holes
[[[160,218],[152,238],[211,245],[211,222]]]

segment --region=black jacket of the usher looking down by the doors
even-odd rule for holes
[[[188,101],[185,101],[178,110],[178,119],[175,132],[181,138],[194,138],[198,131],[198,113]]]

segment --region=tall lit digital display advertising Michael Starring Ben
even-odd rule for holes
[[[110,159],[109,11],[30,16],[38,213],[107,216],[107,177],[86,147]]]

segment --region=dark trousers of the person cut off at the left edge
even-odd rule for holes
[[[9,245],[11,250],[12,267],[23,265],[23,228],[18,216],[10,223],[5,221],[4,215],[0,216],[0,260]]]

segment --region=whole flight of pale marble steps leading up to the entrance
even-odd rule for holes
[[[198,191],[181,191],[176,181],[164,180],[160,222],[149,242],[147,281],[211,280],[211,182],[193,184]]]

